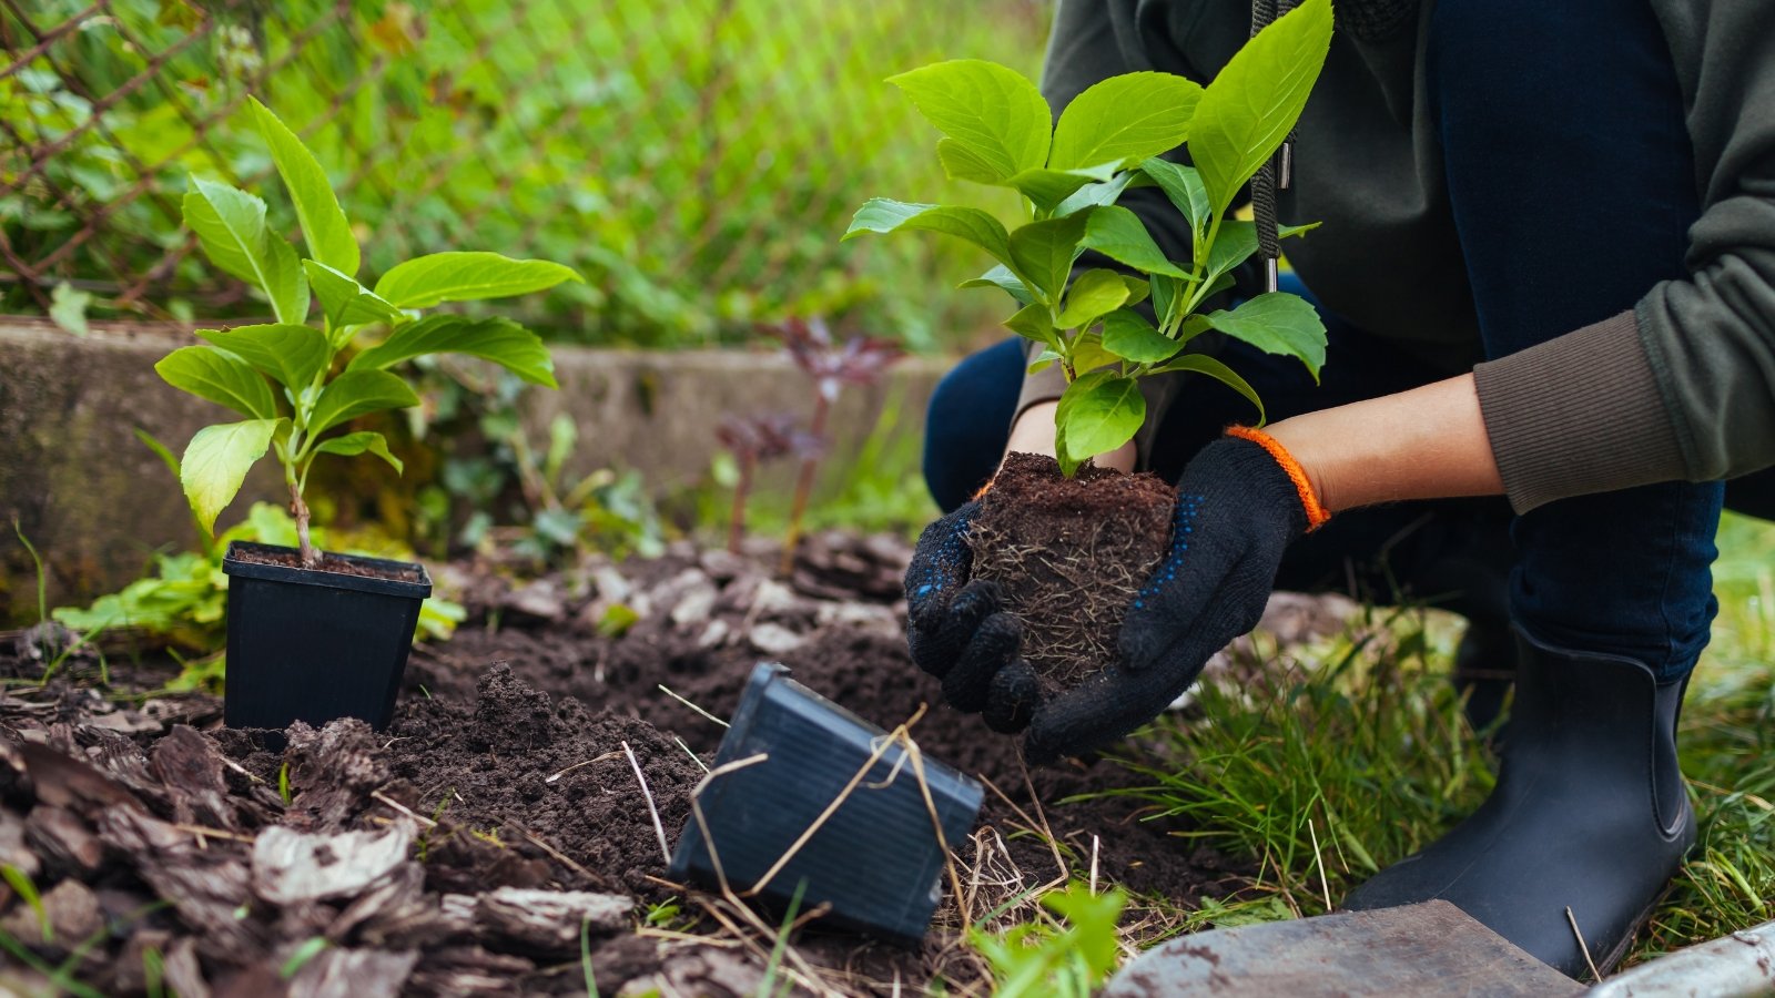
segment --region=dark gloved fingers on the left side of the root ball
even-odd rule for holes
[[[969,579],[974,556],[966,538],[978,511],[976,499],[919,535],[905,572],[907,643],[918,668],[943,680],[951,707],[1017,732],[1037,700],[1035,673],[1017,657],[1022,629],[1003,613],[998,584]]]

